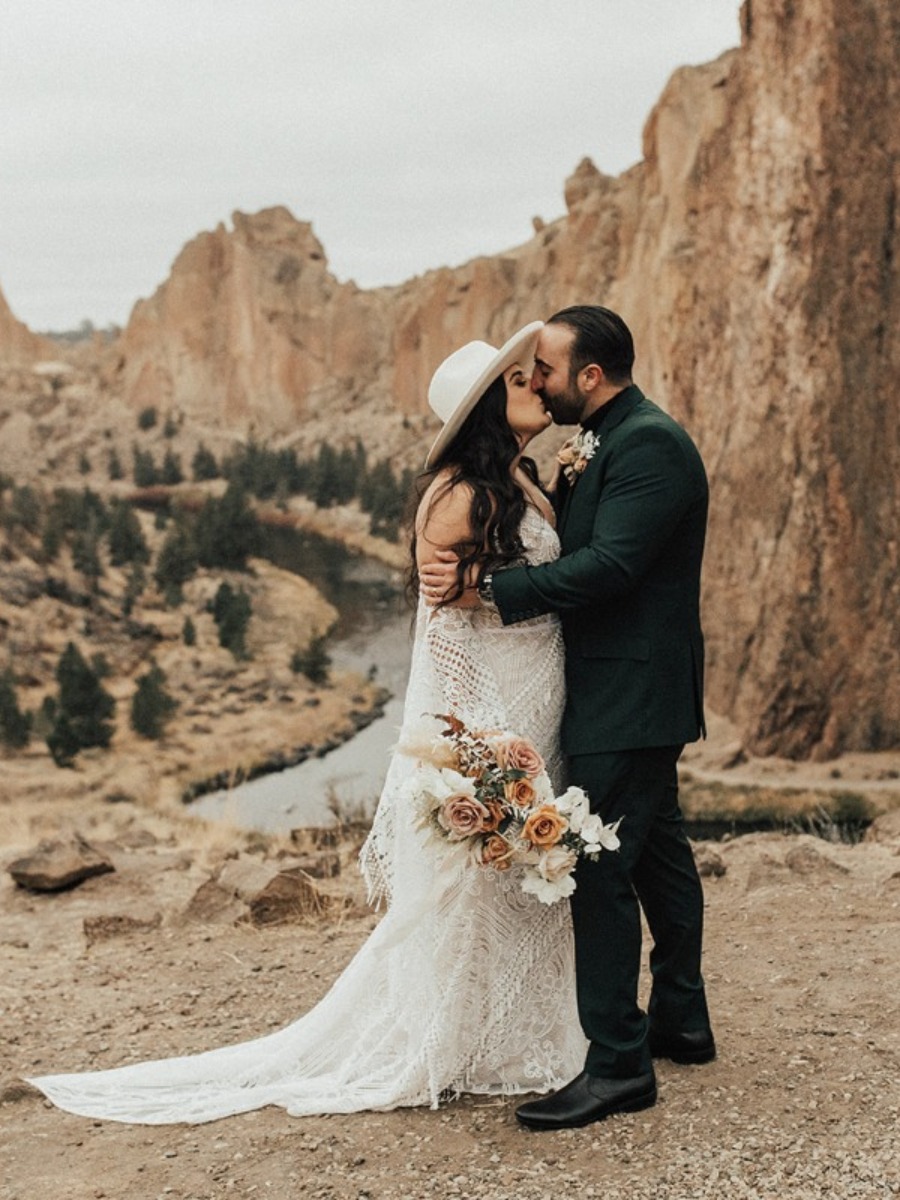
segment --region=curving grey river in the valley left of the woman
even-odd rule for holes
[[[374,672],[392,698],[382,716],[323,757],[209,792],[191,803],[191,811],[269,833],[330,824],[332,798],[348,815],[371,816],[400,731],[409,672],[412,625],[402,580],[374,559],[293,529],[266,529],[262,557],[310,580],[337,608],[328,644],[332,667]]]

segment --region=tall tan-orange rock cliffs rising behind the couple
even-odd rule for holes
[[[756,752],[896,746],[900,18],[892,0],[742,12],[739,49],[670,80],[643,161],[582,162],[566,216],[514,251],[364,292],[286,209],[202,234],[98,354],[97,436],[113,406],[155,404],[194,439],[311,444],[364,420],[376,456],[418,458],[449,349],[608,304],[709,468],[710,706]]]

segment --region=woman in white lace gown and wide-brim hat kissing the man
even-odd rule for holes
[[[31,1079],[70,1112],[145,1124],[215,1121],[268,1104],[293,1116],[437,1106],[460,1093],[545,1092],[582,1066],[568,904],[522,892],[516,871],[440,869],[404,782],[404,738],[426,714],[528,737],[560,782],[564,700],[558,618],[504,628],[467,606],[466,581],[556,558],[553,511],[522,452],[551,416],[530,388],[540,322],[498,350],[469,342],[437,370],[443,428],[426,460],[414,575],[460,556],[452,606],[419,600],[400,749],[361,869],[386,912],[326,996],[277,1033],[190,1057]]]

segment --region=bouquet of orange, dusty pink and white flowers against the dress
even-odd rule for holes
[[[553,904],[575,890],[580,857],[618,848],[619,821],[604,824],[580,787],[554,796],[527,738],[472,731],[445,714],[438,720],[439,734],[401,749],[419,760],[407,785],[419,826],[448,851],[496,871],[521,866],[522,890]]]

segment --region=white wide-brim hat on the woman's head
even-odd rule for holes
[[[514,362],[522,364],[526,371],[530,368],[541,329],[544,322],[533,320],[504,342],[499,350],[487,342],[467,342],[444,359],[428,384],[428,403],[444,427],[428,450],[426,468],[450,445],[494,379]]]

